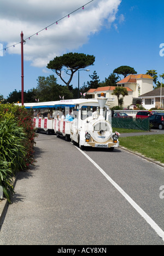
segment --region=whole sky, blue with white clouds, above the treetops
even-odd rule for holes
[[[72,0],[68,5],[68,0],[62,3],[48,0],[46,8],[43,0],[8,2],[0,0],[0,43],[3,48],[19,43],[21,30],[25,39],[90,1]],[[24,5],[21,7],[22,2]],[[56,13],[51,13],[52,2]],[[90,72],[80,72],[80,86],[91,80],[89,74],[92,75],[93,71],[102,81],[115,68],[123,65],[133,67],[138,74],[146,73],[147,69],[155,69],[158,75],[163,74],[164,56],[160,56],[160,44],[164,44],[163,10],[163,0],[92,1],[84,10],[78,10],[70,18],[48,28],[48,31],[44,30],[26,40],[24,90],[36,88],[39,76],[55,74],[46,68],[46,63],[69,52],[96,57],[94,66],[87,67]],[[3,56],[0,56],[0,95],[5,98],[15,89],[21,90],[20,52],[18,44],[3,51]],[[58,77],[57,82],[64,85]],[[78,86],[78,74],[74,75],[72,84],[74,88]]]

